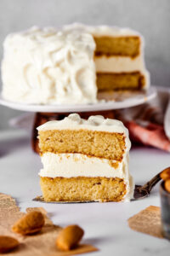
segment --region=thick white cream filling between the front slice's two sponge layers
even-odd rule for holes
[[[126,184],[127,194],[123,201],[133,197],[133,178],[128,172],[128,153],[117,167],[114,160],[88,157],[84,154],[42,154],[41,177],[120,177]]]

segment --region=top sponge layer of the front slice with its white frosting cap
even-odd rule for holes
[[[81,119],[77,113],[37,128],[41,153],[80,153],[122,160],[130,148],[128,131],[121,121],[91,116]]]

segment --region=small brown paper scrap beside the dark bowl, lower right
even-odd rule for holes
[[[147,207],[143,211],[129,218],[127,222],[132,230],[163,238],[161,233],[160,207]]]

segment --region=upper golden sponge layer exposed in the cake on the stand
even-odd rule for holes
[[[119,55],[136,57],[140,53],[140,38],[135,36],[94,37],[96,44],[95,55]]]

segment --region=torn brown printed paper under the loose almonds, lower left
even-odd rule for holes
[[[45,216],[45,226],[37,235],[20,236],[11,231],[11,226],[16,220],[24,216],[26,213],[20,212],[14,199],[9,195],[0,194],[0,235],[13,236],[20,241],[20,247],[11,253],[3,253],[3,255],[16,256],[66,256],[81,253],[95,252],[98,249],[88,244],[81,244],[76,249],[69,252],[61,252],[55,247],[55,240],[61,227],[53,224],[48,218],[47,212],[42,207],[27,208],[26,212],[41,211]]]

